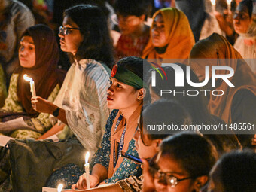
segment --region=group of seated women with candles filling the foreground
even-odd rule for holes
[[[70,189],[66,191],[254,191],[256,77],[251,67],[224,36],[212,32],[207,38],[201,39],[200,33],[196,36],[178,8],[160,9],[148,27],[144,14],[130,14],[140,8],[126,8],[130,2],[143,5],[139,0],[116,1],[122,35],[115,49],[102,9],[75,5],[64,11],[59,44],[72,63],[68,72],[57,67],[59,50],[50,27],[37,24],[23,32],[20,66],[11,75],[0,126],[23,117],[29,129],[17,125],[11,130],[0,128],[0,134],[34,138],[38,143],[53,135],[59,142],[75,138],[92,154],[90,186],[84,167],[70,162],[47,175],[47,187],[64,184]],[[247,2],[242,1],[238,11]],[[182,87],[176,85],[175,67],[161,66],[168,59],[183,62],[173,63],[184,72],[184,79],[179,79],[184,82]],[[229,75],[228,79],[213,78],[216,66],[222,69],[216,74]],[[233,69],[233,74],[226,74],[223,67]],[[35,82],[36,96],[23,75]],[[192,86],[187,76],[193,84],[204,84],[208,78],[205,91]],[[163,90],[179,94],[163,94]],[[197,94],[191,96],[191,90]],[[182,132],[147,129],[163,123],[227,129],[225,133],[208,133],[197,126]],[[250,129],[236,132],[233,126],[241,123]],[[17,180],[7,168],[9,152],[1,150],[0,191],[11,191]],[[123,157],[122,152],[140,158],[142,164]],[[31,186],[29,191],[41,187]]]

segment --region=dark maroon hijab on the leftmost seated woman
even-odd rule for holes
[[[35,44],[35,66],[23,68],[18,71],[19,79],[17,84],[17,96],[23,105],[24,110],[31,117],[37,117],[38,112],[31,106],[32,93],[30,92],[29,81],[23,79],[27,74],[35,81],[35,92],[37,96],[47,99],[56,84],[59,84],[57,63],[59,61],[59,50],[53,30],[48,26],[31,26],[23,33],[32,37]]]

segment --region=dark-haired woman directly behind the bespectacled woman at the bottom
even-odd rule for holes
[[[139,158],[151,159],[159,151],[159,145],[163,139],[172,134],[171,132],[158,132],[157,130],[148,131],[147,125],[166,125],[175,124],[177,126],[190,124],[190,116],[182,105],[177,102],[162,99],[151,105],[145,106],[142,115],[139,118],[139,126],[133,136],[135,140],[136,151]],[[162,133],[162,134],[161,134]],[[128,153],[129,154],[129,153]],[[130,161],[127,160],[126,161]],[[139,177],[130,176],[116,184],[105,187],[95,187],[84,191],[142,191],[143,175]],[[69,190],[72,191],[72,190]],[[74,191],[74,190],[73,190]]]

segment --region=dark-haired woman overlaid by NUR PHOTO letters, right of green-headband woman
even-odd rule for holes
[[[190,72],[191,81],[194,83],[199,82],[197,75],[192,70],[187,71],[186,65],[180,63],[175,63],[175,65],[181,67],[184,72],[184,77],[187,77],[187,72]],[[171,99],[181,103],[192,117],[192,125],[194,126],[224,124],[224,121],[219,117],[209,113],[206,105],[206,96],[200,91],[199,87],[190,86],[186,78],[183,79],[184,87],[177,87],[175,85],[177,81],[175,69],[170,66],[163,67],[162,69],[166,73],[167,80],[163,80],[160,74],[156,73],[156,86],[151,86],[152,79],[148,79],[152,102],[158,99]],[[161,94],[161,90],[171,90],[172,93],[167,92]],[[194,91],[190,92],[190,90]],[[236,135],[233,134],[232,130],[216,131],[202,129],[198,131],[211,140],[220,155],[234,149],[241,149],[239,140]]]

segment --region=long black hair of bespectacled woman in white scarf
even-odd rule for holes
[[[95,59],[111,68],[114,64],[113,47],[103,11],[94,5],[75,5],[66,9],[63,15],[70,17],[84,36],[75,57]]]

